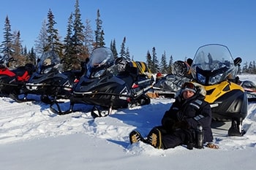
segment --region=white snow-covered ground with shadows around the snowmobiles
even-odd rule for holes
[[[256,82],[256,75],[239,77]],[[213,128],[219,150],[184,146],[157,150],[142,142],[129,144],[130,131],[136,128],[146,136],[172,102],[153,99],[149,105],[93,119],[86,105],[85,112],[56,115],[40,101],[0,98],[1,170],[255,169],[255,103],[248,105],[244,136],[230,137],[225,129]],[[221,128],[229,128],[229,123]]]

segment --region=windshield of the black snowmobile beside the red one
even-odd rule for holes
[[[37,73],[38,74],[47,74],[53,69],[62,71],[61,59],[59,55],[54,51],[47,51],[42,54],[37,63]]]

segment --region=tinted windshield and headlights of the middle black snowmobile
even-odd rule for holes
[[[110,66],[113,66],[114,61],[113,53],[109,48],[99,47],[93,50],[87,63],[86,77],[101,77]]]

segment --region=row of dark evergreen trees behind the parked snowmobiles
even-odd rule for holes
[[[91,28],[91,20],[86,19],[85,23],[81,20],[79,0],[75,1],[75,11],[71,12],[67,18],[67,34],[61,40],[59,30],[55,28],[56,20],[51,9],[48,10],[47,20],[42,22],[42,28],[39,31],[39,36],[35,41],[34,47],[30,50],[26,45],[22,45],[20,39],[20,31],[11,29],[8,15],[4,23],[4,40],[0,44],[1,58],[12,58],[10,68],[14,69],[18,66],[24,66],[26,63],[37,64],[42,53],[48,50],[53,50],[61,58],[64,63],[64,71],[72,69],[81,69],[80,64],[89,58],[91,51],[97,47],[105,46],[105,32],[102,28],[102,20],[100,19],[99,9],[97,10],[96,30]],[[129,54],[129,48],[125,47],[126,37],[121,43],[121,50],[118,54],[116,50],[116,40],[110,42],[110,50],[112,50],[115,58],[123,57],[128,61],[133,61],[134,58]],[[186,59],[186,58],[185,58]],[[164,52],[160,58],[157,57],[156,48],[153,47],[151,53],[149,50],[146,53],[146,64],[151,69],[152,73],[161,72],[162,74],[170,74],[173,66],[173,56],[170,55],[169,62]],[[255,61],[244,63],[243,72],[255,74]]]

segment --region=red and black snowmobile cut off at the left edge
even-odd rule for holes
[[[23,85],[35,70],[32,63],[26,63],[25,66],[19,66],[16,69],[9,69],[11,61],[13,58],[0,58],[0,96],[20,94]]]

